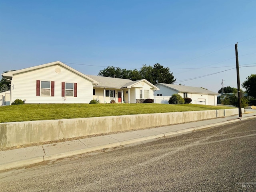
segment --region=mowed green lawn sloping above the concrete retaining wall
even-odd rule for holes
[[[24,104],[0,107],[0,122],[228,109],[198,104]]]

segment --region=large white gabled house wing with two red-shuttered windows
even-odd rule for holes
[[[2,74],[10,80],[10,103],[89,103],[98,82],[60,61]]]

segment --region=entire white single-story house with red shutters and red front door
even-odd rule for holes
[[[145,79],[85,75],[60,61],[8,71],[2,77],[11,82],[10,104],[16,99],[26,104],[89,103],[93,98],[104,103],[138,103],[154,99],[158,90]]]

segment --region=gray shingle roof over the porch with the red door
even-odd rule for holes
[[[134,81],[130,79],[120,79],[120,78],[112,78],[112,77],[102,77],[96,75],[86,75],[96,81],[99,82],[98,85],[94,87],[106,87],[106,88],[118,88],[126,87],[126,84],[134,84]]]

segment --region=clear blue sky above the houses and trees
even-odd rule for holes
[[[255,0],[0,0],[1,74],[58,60],[92,75],[160,63],[175,84],[218,92],[222,79],[237,88],[236,42],[242,84],[256,74]]]

